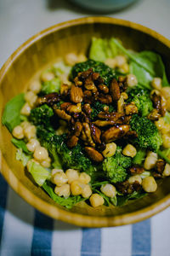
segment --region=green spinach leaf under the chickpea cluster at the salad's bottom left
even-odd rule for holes
[[[45,182],[42,185],[42,188],[48,193],[48,195],[60,206],[71,209],[79,201],[85,201],[85,198],[82,198],[81,195],[69,196],[68,198],[61,197],[54,193],[54,184],[50,182]]]

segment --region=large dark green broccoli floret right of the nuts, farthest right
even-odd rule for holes
[[[132,140],[132,143],[139,148],[148,148],[157,151],[160,148],[162,140],[159,131],[154,123],[145,117],[134,114],[130,120],[131,129],[136,131],[138,137]]]

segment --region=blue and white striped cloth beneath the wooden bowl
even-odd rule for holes
[[[170,256],[170,208],[138,224],[86,229],[48,218],[0,176],[0,256]]]

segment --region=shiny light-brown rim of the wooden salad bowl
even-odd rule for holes
[[[90,23],[105,23],[113,24],[120,26],[131,27],[139,32],[144,32],[145,34],[150,35],[152,38],[158,39],[162,44],[165,44],[170,48],[170,40],[163,37],[161,34],[151,30],[148,27],[139,25],[132,21],[121,20],[111,17],[84,17],[76,20],[67,20],[65,22],[59,23],[54,26],[50,26],[42,32],[37,32],[36,35],[29,38],[24,44],[21,44],[18,49],[14,51],[12,55],[8,57],[8,60],[3,64],[3,67],[0,70],[0,85],[2,84],[5,74],[8,72],[8,69],[12,66],[14,61],[28,48],[31,44],[34,44],[37,40],[47,36],[51,32],[56,32],[62,28],[69,26],[76,26],[80,24],[90,24]],[[2,125],[2,124],[1,124]],[[5,161],[2,151],[0,151],[0,172],[3,177],[6,179],[8,184],[14,191],[20,195],[26,202],[28,202],[32,207],[35,207],[40,212],[48,215],[51,218],[59,219],[65,221],[66,223],[76,224],[83,227],[107,227],[107,226],[119,226],[124,224],[133,224],[139,221],[144,220],[145,218],[150,218],[158,212],[163,211],[170,206],[170,195],[167,195],[160,201],[157,201],[154,204],[151,204],[149,207],[144,207],[137,212],[125,213],[118,216],[107,216],[107,217],[96,217],[96,216],[87,216],[79,214],[76,212],[68,212],[66,209],[58,208],[50,203],[43,201],[37,195],[34,195],[29,189],[27,189],[20,180],[14,176],[12,170],[8,167],[7,162]]]

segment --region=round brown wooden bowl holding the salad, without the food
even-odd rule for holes
[[[6,102],[21,91],[40,70],[69,52],[86,53],[91,38],[120,38],[125,47],[159,53],[170,70],[170,41],[152,30],[125,20],[89,17],[52,26],[22,44],[0,71],[0,112]],[[167,73],[169,74],[169,73]],[[161,180],[156,193],[130,201],[123,207],[92,208],[84,202],[70,211],[60,207],[27,177],[15,160],[15,148],[8,130],[0,127],[1,172],[8,184],[31,206],[71,224],[87,227],[132,224],[150,218],[170,205],[170,177]],[[22,210],[22,209],[21,209]]]

